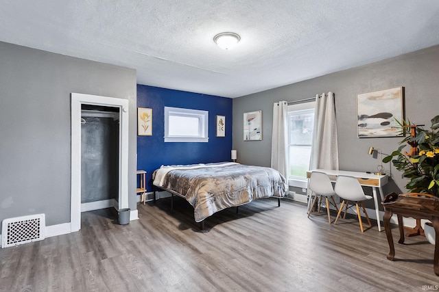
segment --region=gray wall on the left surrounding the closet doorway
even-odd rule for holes
[[[130,101],[129,207],[136,204],[136,71],[0,42],[0,221],[70,222],[71,92]]]

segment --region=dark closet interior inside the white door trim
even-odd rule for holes
[[[119,200],[119,107],[81,107],[81,213]]]

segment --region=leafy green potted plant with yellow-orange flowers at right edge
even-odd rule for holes
[[[383,158],[384,163],[392,161],[396,170],[403,172],[408,178],[405,188],[412,193],[425,193],[439,197],[439,116],[431,119],[430,129],[423,129],[411,125],[410,121],[398,122],[401,133],[407,128],[412,135],[399,142],[398,150]],[[410,145],[410,152],[403,152],[405,146]],[[434,228],[427,222],[423,226],[425,235],[430,243],[434,244]]]

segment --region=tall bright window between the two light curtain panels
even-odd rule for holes
[[[288,106],[289,181],[297,187],[303,187],[309,170],[315,104]]]

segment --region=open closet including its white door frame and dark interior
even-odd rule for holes
[[[108,118],[116,122],[117,126],[111,125],[113,122]],[[82,127],[87,120],[89,124],[83,131]],[[117,127],[115,129],[117,137],[110,137],[115,133],[110,135],[101,133],[106,131],[102,129],[103,126],[106,127],[105,124],[110,125],[113,130]],[[101,129],[94,129],[97,127]],[[93,133],[93,131],[97,132]],[[84,139],[88,142],[82,141]],[[115,145],[108,147],[100,145],[109,140],[113,140],[111,143]],[[82,149],[84,147],[86,149]],[[107,153],[99,152],[104,148]],[[86,153],[84,150],[92,150],[94,153]],[[101,156],[98,157],[99,161],[93,161],[94,155]],[[116,156],[115,161],[110,163],[104,161],[105,157],[109,156]],[[106,177],[102,178],[102,176]],[[117,178],[117,181],[110,182],[112,178]],[[110,183],[110,187],[102,185],[104,181]],[[82,183],[87,185],[84,186]],[[90,188],[93,187],[97,189],[92,191]],[[72,93],[71,232],[81,228],[81,211],[102,209],[112,205],[117,209],[128,208],[128,100]]]

